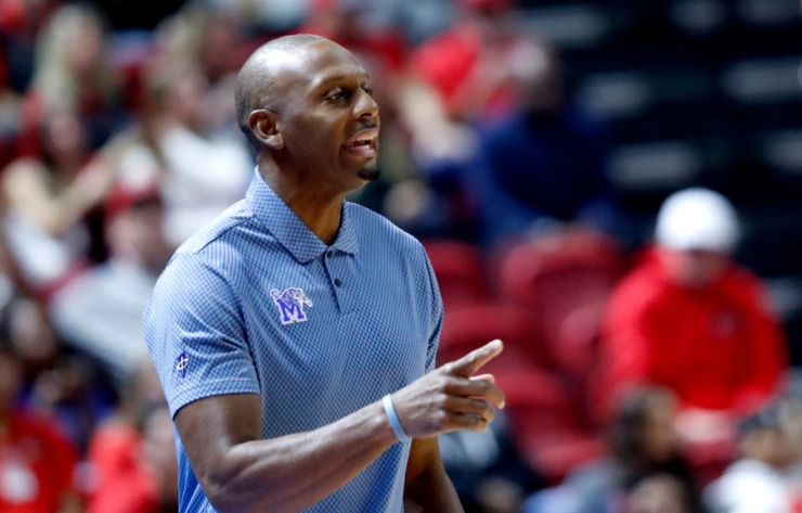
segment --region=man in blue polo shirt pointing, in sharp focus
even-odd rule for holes
[[[180,510],[461,511],[437,435],[503,407],[474,376],[502,345],[432,370],[442,303],[423,247],[345,202],[378,176],[364,68],[325,38],[280,38],[241,69],[236,106],[258,172],[145,312]]]

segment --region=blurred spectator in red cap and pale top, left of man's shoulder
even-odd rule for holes
[[[147,354],[142,313],[174,246],[164,235],[164,206],[155,184],[118,184],[106,211],[109,258],[78,275],[50,302],[65,341],[128,381]]]

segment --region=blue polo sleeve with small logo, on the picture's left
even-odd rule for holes
[[[237,296],[224,273],[202,255],[172,259],[143,322],[173,416],[206,397],[259,393]]]

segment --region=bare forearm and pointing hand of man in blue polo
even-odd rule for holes
[[[428,453],[427,476],[448,479],[437,476],[427,444],[450,431],[484,431],[493,419],[491,405],[503,408],[504,395],[492,380],[470,379],[501,350],[501,343],[490,343],[393,394],[406,434],[432,440],[415,444],[416,454]],[[220,513],[307,508],[397,443],[381,401],[318,429],[267,440],[261,439],[261,407],[254,394],[191,402],[179,410],[176,425],[204,492]]]

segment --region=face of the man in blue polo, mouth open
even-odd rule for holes
[[[276,162],[297,176],[309,174],[337,192],[378,177],[378,105],[367,73],[355,57],[329,41],[300,52],[285,67],[276,89],[276,126],[284,148]]]

